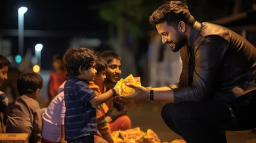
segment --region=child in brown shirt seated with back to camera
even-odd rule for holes
[[[7,107],[7,133],[29,133],[29,142],[41,142],[42,120],[36,98],[42,86],[43,79],[39,74],[21,74],[17,80],[20,97]]]

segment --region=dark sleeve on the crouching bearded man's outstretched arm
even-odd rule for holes
[[[198,102],[213,94],[217,70],[228,47],[224,38],[211,35],[192,51],[195,56],[193,82],[191,86],[174,89],[175,102]]]

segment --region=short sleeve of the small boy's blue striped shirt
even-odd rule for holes
[[[95,92],[84,83],[79,82],[76,88],[78,88],[78,98],[85,103],[89,102],[96,96]]]

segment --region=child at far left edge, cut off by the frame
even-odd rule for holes
[[[4,80],[7,80],[7,71],[8,66],[10,65],[10,61],[0,55],[0,87],[4,83]],[[5,118],[6,118],[6,108],[8,105],[8,98],[4,94],[4,92],[0,91],[0,133],[5,133]]]

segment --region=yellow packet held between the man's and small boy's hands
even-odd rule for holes
[[[127,83],[130,83],[132,85],[141,86],[140,83],[140,77],[133,77],[132,74],[129,74],[125,79],[120,79],[118,83],[116,83],[116,86],[118,87],[119,94],[123,96],[132,95],[135,93],[135,90],[132,88],[129,88],[127,86]]]

